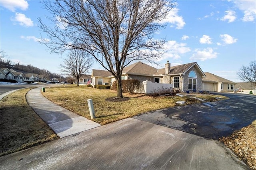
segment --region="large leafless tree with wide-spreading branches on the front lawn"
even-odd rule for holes
[[[154,35],[174,7],[172,0],[43,0],[52,14],[54,27],[43,24],[47,34],[40,43],[51,52],[82,49],[110,71],[117,82],[117,97],[122,98],[121,76],[133,61],[156,63],[163,53],[164,39]]]

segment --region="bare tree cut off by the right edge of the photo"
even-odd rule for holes
[[[250,82],[256,86],[256,60],[251,61],[249,66],[243,65],[236,73],[241,80]]]

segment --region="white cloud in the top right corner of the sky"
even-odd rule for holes
[[[252,22],[256,16],[256,1],[255,0],[236,0],[234,1],[239,10],[244,12],[243,21]]]

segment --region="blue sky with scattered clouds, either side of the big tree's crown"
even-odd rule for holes
[[[48,13],[39,0],[0,0],[0,49],[13,63],[31,64],[62,74],[66,54],[50,54],[38,43],[38,18]],[[159,68],[197,62],[202,71],[239,82],[236,72],[256,60],[255,0],[177,0],[165,29],[167,53]],[[42,32],[41,32],[42,33]],[[42,35],[44,36],[44,35]],[[102,69],[94,63],[92,69]]]

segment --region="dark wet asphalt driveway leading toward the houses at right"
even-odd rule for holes
[[[161,109],[134,118],[216,140],[250,125],[256,119],[255,95],[214,94],[230,99]]]

